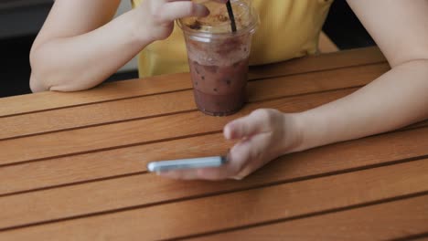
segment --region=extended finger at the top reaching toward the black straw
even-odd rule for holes
[[[204,5],[198,5],[191,1],[169,2],[159,10],[161,21],[174,21],[185,16],[208,16],[209,10]]]

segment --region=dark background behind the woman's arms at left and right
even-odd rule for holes
[[[0,98],[30,93],[29,50],[51,5],[51,0],[0,0]],[[16,30],[22,25],[26,32]],[[344,0],[334,1],[323,30],[340,49],[375,44]],[[137,71],[130,71],[109,80],[137,76]]]

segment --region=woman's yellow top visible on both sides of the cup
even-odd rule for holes
[[[133,6],[144,0],[132,0]],[[319,33],[333,0],[252,0],[260,26],[252,39],[250,64],[261,65],[315,54]],[[181,29],[139,54],[140,77],[188,72]]]

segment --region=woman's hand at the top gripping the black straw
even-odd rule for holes
[[[226,3],[228,0],[215,0]],[[169,37],[174,29],[174,21],[186,16],[208,16],[206,6],[194,3],[191,0],[144,0],[135,9],[137,13],[136,29],[138,25],[144,26],[139,31],[142,37],[150,36],[152,41]]]

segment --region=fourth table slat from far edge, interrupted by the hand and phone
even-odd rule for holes
[[[146,171],[148,162],[219,155],[227,152],[232,143],[224,141],[220,133],[209,134],[6,166],[0,168],[0,183],[3,183],[0,185],[0,195],[140,173]],[[395,162],[427,155],[426,146],[427,128],[393,132],[287,155],[253,174],[251,178],[260,183],[270,183],[284,178],[293,179]],[[159,185],[162,186],[161,183]]]

